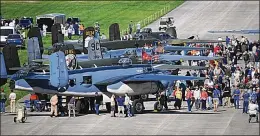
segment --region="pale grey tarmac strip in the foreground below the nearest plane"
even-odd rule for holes
[[[183,109],[154,112],[146,102],[144,114],[110,117],[109,113],[51,118],[48,112],[28,113],[25,123],[14,123],[15,115],[1,115],[1,135],[259,135],[259,123],[248,123],[242,109],[220,107],[218,112],[187,112]]]

